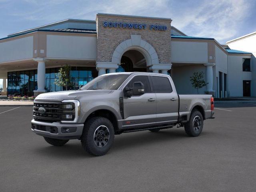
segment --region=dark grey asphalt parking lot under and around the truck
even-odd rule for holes
[[[100,157],[79,140],[50,146],[30,130],[32,107],[0,106],[0,191],[256,191],[256,103],[215,106],[199,137],[125,133]]]

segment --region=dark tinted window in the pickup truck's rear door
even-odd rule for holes
[[[171,93],[172,86],[167,77],[151,76],[155,93]]]

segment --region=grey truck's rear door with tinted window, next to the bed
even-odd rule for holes
[[[150,76],[156,94],[156,121],[158,124],[175,123],[178,120],[178,95],[173,91],[168,77]]]

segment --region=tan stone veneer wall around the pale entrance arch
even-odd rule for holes
[[[109,28],[104,27],[103,22],[126,22],[147,24],[146,29],[130,28]],[[124,40],[130,39],[131,34],[141,35],[141,38],[151,44],[158,54],[159,63],[170,64],[171,56],[171,20],[167,19],[149,19],[143,17],[124,17],[97,15],[97,61],[111,62],[112,54],[115,48]],[[150,30],[150,25],[165,25],[166,31]]]

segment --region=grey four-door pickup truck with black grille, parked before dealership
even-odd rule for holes
[[[98,76],[79,90],[40,94],[31,123],[49,144],[79,139],[86,152],[101,156],[115,134],[178,125],[195,137],[213,114],[211,95],[178,95],[168,75],[122,72]]]

